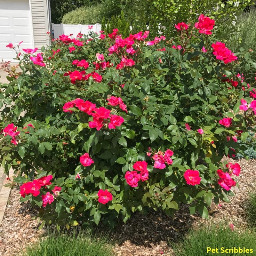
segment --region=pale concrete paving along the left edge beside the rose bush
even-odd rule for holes
[[[11,66],[17,65],[17,63],[11,63]],[[0,69],[0,82],[2,84],[8,83],[8,80],[6,79],[7,73],[3,70]],[[11,169],[9,171],[9,177],[12,180],[13,176],[13,170]],[[7,176],[4,174],[4,169],[3,167],[0,167],[0,224],[3,220],[4,217],[4,212],[6,209],[6,205],[8,202],[8,198],[10,195],[10,188],[9,187],[4,187],[5,184],[10,183],[11,180],[6,180]]]

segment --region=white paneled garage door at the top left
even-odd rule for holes
[[[6,45],[12,43],[22,48],[33,48],[33,33],[29,0],[0,0],[0,60],[8,61],[16,53]],[[13,61],[13,60],[12,60]]]

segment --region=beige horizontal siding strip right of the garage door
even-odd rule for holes
[[[40,50],[43,45],[50,44],[49,36],[46,34],[50,30],[48,0],[31,0],[31,13],[34,45]]]

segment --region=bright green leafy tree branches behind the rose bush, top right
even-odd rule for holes
[[[147,24],[149,30],[154,34],[159,35],[159,32],[164,29],[165,36],[175,34],[174,25],[178,22],[194,23],[198,18],[198,13],[204,13],[214,18],[218,36],[222,37],[224,26],[232,24],[236,20],[236,15],[243,12],[245,6],[250,2],[252,1],[239,0],[223,3],[220,0],[171,0],[167,3],[165,0],[127,0],[124,11],[125,15],[133,20],[133,29],[140,28],[142,30]],[[231,29],[234,30],[234,25]]]

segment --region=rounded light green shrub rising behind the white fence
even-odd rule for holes
[[[83,6],[66,13],[62,18],[64,24],[95,24],[100,23],[100,5]]]

